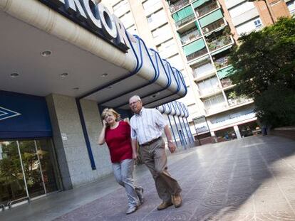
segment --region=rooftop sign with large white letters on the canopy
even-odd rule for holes
[[[130,48],[123,23],[95,0],[39,0],[123,50]]]

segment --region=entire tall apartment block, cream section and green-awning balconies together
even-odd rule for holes
[[[201,143],[241,138],[259,124],[253,100],[234,94],[228,58],[242,33],[289,16],[284,1],[113,0],[113,13],[128,32],[185,73],[190,125]]]

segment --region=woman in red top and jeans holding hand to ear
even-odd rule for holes
[[[138,155],[131,145],[130,125],[120,121],[120,114],[111,108],[105,108],[102,117],[103,129],[98,137],[98,144],[103,145],[106,142],[108,145],[115,180],[125,187],[128,195],[126,214],[130,214],[143,203],[143,188],[136,187],[133,180],[134,159]]]

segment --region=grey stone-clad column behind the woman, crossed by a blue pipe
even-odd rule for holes
[[[97,144],[102,125],[96,102],[81,100],[90,146],[97,164],[97,169],[94,171],[90,166],[75,97],[48,95],[46,102],[53,127],[53,142],[63,188],[66,190],[75,188],[111,173],[108,148],[106,145]]]

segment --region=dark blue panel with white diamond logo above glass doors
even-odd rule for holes
[[[52,136],[44,97],[0,90],[0,140]]]

